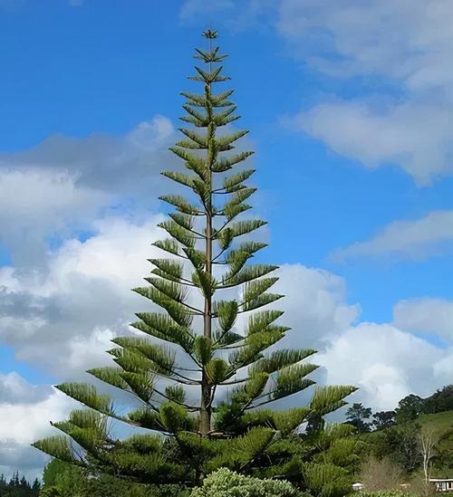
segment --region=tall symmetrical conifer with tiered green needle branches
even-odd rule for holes
[[[217,92],[229,79],[220,65],[226,55],[213,47],[216,32],[204,35],[208,49],[195,55],[203,67],[190,76],[202,92],[182,93],[188,127],[170,148],[186,171],[162,173],[187,195],[160,197],[174,208],[160,224],[168,236],[155,243],[163,256],[149,261],[148,286],[134,289],[154,305],[131,324],[140,336],[112,340],[116,366],[89,371],[127,392],[134,406],[125,414],[124,400],[115,404],[92,385],[65,383],[58,388],[86,408],[54,424],[63,435],[34,446],[144,483],[200,483],[220,466],[301,480],[306,451],[294,445],[294,430],[322,426],[355,388],[318,387],[308,406],[267,409],[311,387],[317,367],[305,361],[312,349],[275,347],[289,328],[279,322],[283,312],[270,309],[283,297],[270,292],[277,266],[251,263],[265,248],[252,239],[265,222],[244,217],[255,193],[246,181],[255,171],[241,164],[252,152],[236,151],[247,131],[228,126],[238,116],[233,91]],[[239,318],[245,327],[236,326]],[[111,439],[111,420],[149,433]],[[309,473],[320,471],[306,466]]]

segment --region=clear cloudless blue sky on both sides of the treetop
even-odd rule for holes
[[[2,12],[0,60],[8,68],[0,81],[2,152],[33,148],[53,134],[120,135],[156,114],[176,122],[178,91],[188,87],[192,45],[203,43],[204,23],[181,20],[178,2],[139,5],[25,2]],[[210,16],[214,24],[216,14]],[[385,78],[331,81],[304,61],[294,62],[270,26],[239,32],[222,27],[219,41],[231,56],[227,72],[242,125],[252,130],[259,154],[256,181],[273,205],[263,209],[272,232],[266,257],[342,274],[365,320],[389,320],[394,301],[420,291],[452,298],[443,278],[451,268],[448,256],[405,263],[402,270],[397,264],[342,267],[326,260],[334,248],[368,238],[394,219],[451,208],[451,179],[419,187],[395,165],[370,171],[284,125],[294,110],[313,106],[324,93],[348,98],[381,85],[387,92]]]

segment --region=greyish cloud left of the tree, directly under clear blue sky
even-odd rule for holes
[[[173,134],[171,121],[155,116],[120,137],[55,135],[0,155],[0,244],[14,265],[44,266],[50,239],[86,230],[119,204],[155,206],[159,173],[176,162],[168,150]]]

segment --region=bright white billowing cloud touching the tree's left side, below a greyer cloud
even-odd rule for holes
[[[134,312],[146,309],[130,289],[149,274],[147,259],[160,255],[151,246],[161,237],[160,219],[99,221],[88,240],[71,239],[48,253],[45,274],[2,268],[0,339],[15,357],[56,378],[105,362],[110,339],[126,333]]]

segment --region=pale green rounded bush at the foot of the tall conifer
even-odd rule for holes
[[[295,497],[302,495],[291,483],[260,480],[243,476],[226,468],[211,473],[201,488],[190,497]]]

